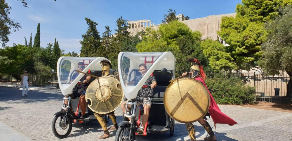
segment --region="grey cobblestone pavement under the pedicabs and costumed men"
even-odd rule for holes
[[[35,88],[37,90],[37,88]],[[46,93],[48,92],[48,93]],[[22,97],[22,90],[0,87],[0,140],[59,140],[53,135],[51,124],[54,113],[60,110],[63,95],[56,89],[43,89],[42,92],[29,91],[28,97]],[[52,94],[54,93],[54,94]],[[219,105],[223,113],[232,117],[238,124],[229,126],[217,124],[208,119],[219,140],[292,140],[292,113],[246,108],[240,106]],[[117,123],[122,120],[122,111],[116,110]],[[207,136],[198,122],[197,140]],[[109,122],[112,126],[112,122]],[[68,138],[62,140],[98,140],[103,131],[98,122],[73,124]],[[116,131],[110,132],[114,140]],[[175,122],[174,135],[148,134],[136,136],[136,140],[189,140],[185,124]]]

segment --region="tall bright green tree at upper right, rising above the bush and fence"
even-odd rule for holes
[[[230,45],[226,53],[231,53],[236,63],[233,69],[250,70],[259,65],[261,44],[267,40],[264,22],[276,17],[279,7],[291,3],[290,0],[242,0],[235,17],[222,18],[218,35]]]

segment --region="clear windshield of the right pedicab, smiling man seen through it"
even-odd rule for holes
[[[121,77],[125,85],[137,85],[162,53],[123,53]],[[146,68],[139,65],[146,64]],[[152,73],[152,72],[150,72]],[[143,82],[144,83],[144,82]]]

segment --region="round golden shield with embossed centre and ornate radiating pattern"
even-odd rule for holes
[[[93,112],[107,114],[116,110],[122,103],[124,93],[121,83],[114,77],[96,78],[86,89],[85,99]]]

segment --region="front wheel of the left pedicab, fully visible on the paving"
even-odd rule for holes
[[[67,117],[65,124],[66,115],[59,114],[55,115],[52,122],[52,130],[56,137],[62,139],[68,137],[72,130],[72,120]]]

